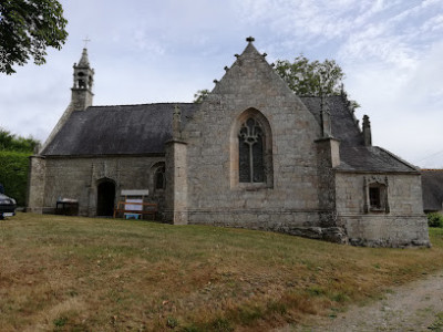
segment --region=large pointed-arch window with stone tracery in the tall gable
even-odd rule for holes
[[[265,132],[259,122],[249,117],[238,133],[239,183],[265,183]]]

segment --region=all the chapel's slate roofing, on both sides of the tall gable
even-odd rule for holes
[[[320,125],[320,98],[301,97]],[[418,173],[418,169],[391,153],[364,146],[362,133],[347,100],[326,98],[331,114],[332,136],[340,141],[339,170]],[[45,156],[145,155],[164,154],[164,144],[172,138],[175,103],[91,106],[73,112],[41,153]],[[178,103],[184,126],[199,104]]]

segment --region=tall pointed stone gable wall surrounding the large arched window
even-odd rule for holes
[[[238,129],[248,116],[266,135],[264,183],[238,179]],[[188,221],[260,229],[318,226],[319,135],[313,115],[249,44],[183,131]]]

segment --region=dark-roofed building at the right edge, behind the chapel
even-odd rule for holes
[[[443,210],[443,169],[422,169],[423,209]]]

